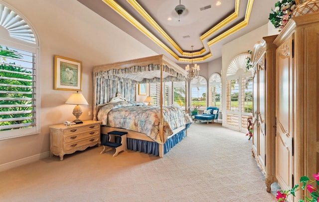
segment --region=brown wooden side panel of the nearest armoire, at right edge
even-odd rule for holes
[[[305,75],[305,129],[307,133],[308,153],[305,159],[308,167],[307,176],[319,172],[319,23],[316,26],[308,27],[306,38],[306,75]],[[312,178],[311,178],[312,179]]]

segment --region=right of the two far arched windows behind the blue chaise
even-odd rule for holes
[[[213,73],[208,80],[208,106],[218,107],[221,111],[221,77]]]

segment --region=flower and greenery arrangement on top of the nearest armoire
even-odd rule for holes
[[[292,12],[296,9],[295,0],[279,0],[275,3],[275,9],[271,9],[269,20],[279,28],[279,31],[284,28],[288,20],[291,18]]]

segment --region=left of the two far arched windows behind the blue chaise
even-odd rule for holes
[[[207,81],[203,76],[197,76],[190,81],[190,105],[206,109]]]

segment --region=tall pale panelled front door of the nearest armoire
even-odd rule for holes
[[[282,190],[293,186],[293,58],[292,36],[276,51],[276,178]]]

